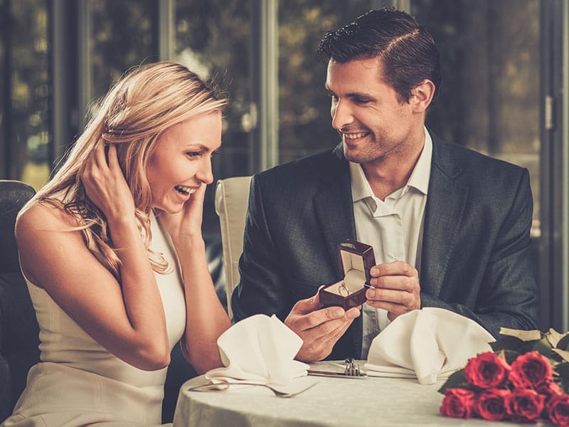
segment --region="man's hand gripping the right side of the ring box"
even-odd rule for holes
[[[366,291],[371,307],[388,311],[388,319],[421,308],[419,273],[403,261],[393,261],[371,268],[370,288]]]

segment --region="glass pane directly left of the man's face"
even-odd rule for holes
[[[370,9],[369,0],[279,2],[279,162],[339,143],[324,90],[326,63],[316,53],[326,31]]]

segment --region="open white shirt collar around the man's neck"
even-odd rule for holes
[[[429,188],[429,180],[431,175],[431,159],[432,159],[432,139],[425,127],[425,145],[421,155],[409,176],[409,180],[405,186],[418,189],[422,194],[427,194]],[[351,177],[351,194],[353,201],[366,199],[373,196],[371,186],[369,185],[366,174],[363,173],[361,164],[349,162]]]

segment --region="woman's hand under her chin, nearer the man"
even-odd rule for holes
[[[195,239],[202,239],[201,236],[201,221],[203,218],[203,199],[206,196],[206,184],[201,184],[196,191],[193,192],[190,199],[184,204],[182,209],[177,214],[168,214],[161,211],[159,218],[168,231],[174,246],[179,248],[179,245],[184,242],[195,241]]]

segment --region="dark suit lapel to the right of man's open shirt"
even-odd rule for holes
[[[432,165],[425,207],[420,283],[421,290],[437,297],[456,243],[468,189],[458,179],[462,169],[447,145],[432,135]]]

